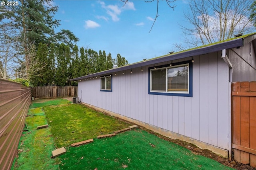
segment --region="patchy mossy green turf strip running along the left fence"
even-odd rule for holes
[[[36,129],[37,126],[45,124],[47,120],[42,107],[28,110],[26,127],[20,138],[18,158],[14,160],[13,170],[58,169],[58,164],[55,163],[57,160],[51,159],[55,146],[50,129]]]

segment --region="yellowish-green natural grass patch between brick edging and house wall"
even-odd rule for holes
[[[131,125],[82,104],[46,106],[44,112],[58,148],[113,133]]]

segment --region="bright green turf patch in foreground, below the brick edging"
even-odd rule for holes
[[[219,162],[140,129],[69,147],[60,169],[86,170],[231,170]]]

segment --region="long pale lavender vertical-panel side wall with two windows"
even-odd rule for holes
[[[221,52],[193,58],[193,97],[148,94],[148,68],[154,65],[116,76],[113,72],[112,92],[100,91],[99,77],[80,81],[78,97],[83,103],[229,150],[229,68]],[[191,57],[172,63],[186,60]],[[164,64],[168,63],[156,65]]]

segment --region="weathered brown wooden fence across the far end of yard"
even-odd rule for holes
[[[76,97],[77,86],[38,86],[32,88],[34,98],[63,98]]]

